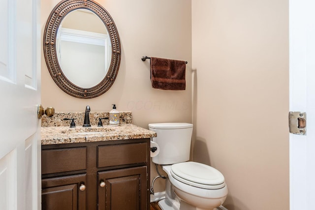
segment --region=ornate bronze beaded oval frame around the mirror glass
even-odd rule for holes
[[[56,54],[57,30],[65,15],[76,9],[93,11],[104,23],[112,44],[112,58],[105,78],[92,88],[81,88],[71,83],[63,74]],[[106,92],[114,83],[121,60],[120,39],[116,25],[109,13],[93,0],[62,0],[50,13],[45,30],[43,49],[48,71],[64,92],[77,98],[94,98]],[[87,69],[88,70],[88,69]],[[89,72],[87,73],[87,77]]]

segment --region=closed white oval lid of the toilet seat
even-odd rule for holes
[[[221,172],[202,163],[183,162],[173,164],[171,175],[176,180],[200,188],[219,189],[225,186]]]

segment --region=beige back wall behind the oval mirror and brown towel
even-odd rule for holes
[[[72,97],[52,80],[42,53],[42,105],[57,112],[131,111],[133,123],[148,128],[154,122],[191,122],[191,3],[190,0],[96,0],[112,16],[122,45],[122,60],[114,85],[93,99]],[[41,2],[42,35],[47,18],[59,0]],[[187,60],[186,90],[151,88],[150,61],[142,56]],[[89,69],[88,69],[89,70]],[[88,74],[87,74],[88,75]],[[83,123],[83,122],[82,122]],[[80,123],[77,123],[80,124]],[[157,176],[151,168],[151,179]],[[165,182],[157,180],[155,191]]]

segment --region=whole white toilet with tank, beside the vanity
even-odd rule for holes
[[[192,124],[152,123],[159,153],[152,161],[167,173],[162,210],[215,210],[225,201],[227,186],[217,169],[189,160]]]

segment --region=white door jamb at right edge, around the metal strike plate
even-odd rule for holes
[[[289,0],[290,111],[307,113],[290,134],[290,209],[315,210],[315,1]]]

